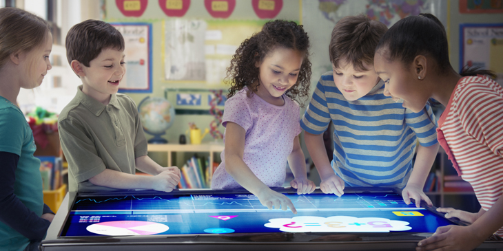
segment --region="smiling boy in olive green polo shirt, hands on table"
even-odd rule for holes
[[[70,191],[170,192],[180,181],[176,166],[159,166],[147,156],[136,105],[117,94],[125,74],[124,47],[121,33],[103,21],[83,21],[66,36],[68,63],[82,80],[58,120]],[[134,175],[136,168],[154,176]]]

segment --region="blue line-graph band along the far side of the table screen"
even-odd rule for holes
[[[333,199],[325,194],[287,195],[297,210],[366,210],[415,208],[399,195],[347,194]],[[126,195],[95,196],[76,201],[79,210],[267,210],[257,197],[242,195]]]

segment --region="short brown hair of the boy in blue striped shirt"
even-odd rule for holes
[[[366,71],[363,63],[373,65],[373,55],[382,35],[388,28],[362,14],[344,17],[332,30],[329,45],[330,62],[338,68],[341,60],[356,70]]]

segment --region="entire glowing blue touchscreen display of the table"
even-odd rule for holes
[[[60,237],[267,232],[435,232],[453,224],[398,193],[342,197],[285,193],[298,213],[269,210],[247,193],[85,195],[74,199]]]

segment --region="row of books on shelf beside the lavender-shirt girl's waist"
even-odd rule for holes
[[[191,157],[180,168],[182,177],[178,188],[210,188],[216,167],[216,162],[209,166],[209,157]]]

